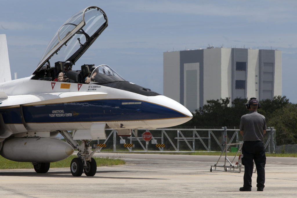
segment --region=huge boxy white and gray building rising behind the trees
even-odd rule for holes
[[[207,100],[282,95],[282,52],[210,48],[164,52],[163,93],[194,111]]]

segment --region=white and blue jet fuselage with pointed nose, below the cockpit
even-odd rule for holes
[[[32,89],[39,93],[32,94]],[[144,96],[95,83],[62,83],[28,77],[0,84],[0,91],[9,95],[0,108],[4,123],[15,128],[14,133],[90,129],[97,122],[114,129],[162,128],[192,117],[185,107],[168,97]]]

